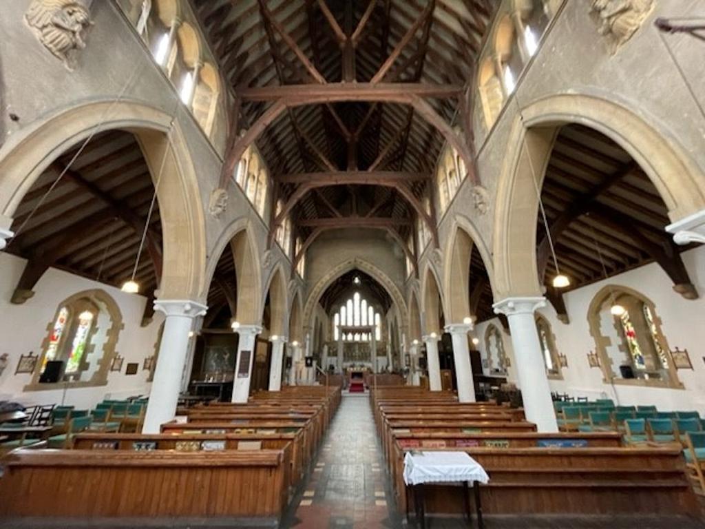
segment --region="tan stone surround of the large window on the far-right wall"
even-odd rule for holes
[[[666,358],[668,358],[668,380],[642,380],[642,379],[621,379],[615,377],[613,370],[618,369],[618,366],[612,365],[612,360],[607,353],[607,346],[611,345],[611,340],[608,336],[603,336],[601,332],[600,324],[600,308],[603,303],[608,298],[612,296],[618,297],[620,294],[627,294],[632,296],[637,300],[647,305],[651,310],[651,314],[654,315],[654,324],[656,324],[656,334],[658,334],[659,339],[666,349]],[[624,285],[618,284],[607,284],[600,288],[599,291],[592,296],[590,304],[587,308],[587,325],[590,332],[590,336],[595,343],[595,352],[600,359],[600,369],[602,371],[602,382],[603,384],[627,384],[627,385],[641,385],[641,386],[655,386],[655,387],[668,387],[671,389],[685,389],[685,386],[678,379],[678,370],[676,369],[673,358],[670,355],[670,346],[668,345],[668,340],[666,339],[666,334],[663,334],[663,322],[661,322],[661,317],[656,312],[656,304],[651,301],[651,299],[644,296],[639,291],[634,290]]]

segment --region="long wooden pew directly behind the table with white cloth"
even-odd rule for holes
[[[397,504],[412,509],[400,446],[393,461]],[[680,450],[668,448],[494,449],[466,451],[489,473],[481,487],[488,514],[680,513],[697,516]],[[425,487],[428,513],[462,513],[458,487]]]

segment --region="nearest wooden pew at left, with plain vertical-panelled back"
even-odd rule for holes
[[[52,523],[164,518],[166,525],[173,518],[212,518],[271,526],[287,502],[282,450],[20,449],[2,463],[0,520],[5,526],[25,516]]]

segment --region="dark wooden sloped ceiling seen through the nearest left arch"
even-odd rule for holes
[[[154,186],[134,135],[111,130],[63,153],[25,194],[7,251],[29,261],[13,296],[21,302],[49,267],[121,286],[130,279]],[[75,158],[75,159],[74,159]],[[73,161],[73,163],[71,163]],[[68,169],[60,179],[59,175]],[[159,205],[135,274],[150,295],[161,274]]]

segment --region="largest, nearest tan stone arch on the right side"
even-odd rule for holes
[[[654,183],[672,221],[705,207],[705,176],[666,131],[656,130],[622,104],[594,95],[539,99],[515,118],[499,179],[494,217],[499,300],[542,295],[535,250],[539,199],[532,167],[541,189],[556,132],[568,123],[593,128],[623,147]]]

